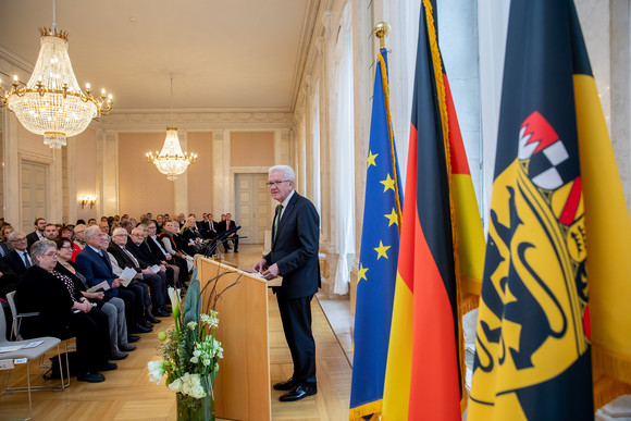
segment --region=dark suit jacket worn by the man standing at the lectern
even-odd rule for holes
[[[274,288],[283,298],[308,297],[320,287],[320,216],[309,199],[294,193],[279,223],[276,240],[265,256],[276,263],[283,285]]]

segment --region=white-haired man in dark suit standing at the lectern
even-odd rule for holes
[[[286,382],[274,384],[277,391],[288,391],[281,401],[300,400],[318,392],[311,299],[320,286],[320,216],[313,203],[294,190],[295,179],[290,166],[275,165],[269,170],[268,186],[280,205],[272,226],[272,249],[253,267],[267,280],[283,276],[283,284],[273,289],[294,374]]]

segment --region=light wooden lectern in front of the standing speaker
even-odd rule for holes
[[[216,285],[227,289],[216,304],[216,338],[223,347],[214,384],[214,410],[228,420],[271,420],[270,345],[268,338],[268,282],[259,276],[202,256],[196,257],[201,288],[218,274]],[[202,311],[208,308],[209,286],[202,294]]]

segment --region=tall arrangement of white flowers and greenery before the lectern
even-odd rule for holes
[[[216,281],[224,273],[218,273],[205,286],[205,289],[211,286],[206,312],[201,312],[200,297],[203,290],[200,290],[197,280],[197,268],[193,271],[184,304],[180,289],[169,288],[174,325],[158,334],[163,343],[160,346],[162,360],[149,361],[148,367],[151,382],[160,384],[166,375],[166,386],[177,394],[178,420],[214,419],[213,386],[223,348],[214,335],[219,319],[213,309],[221,295],[239,281],[237,278],[218,294]]]

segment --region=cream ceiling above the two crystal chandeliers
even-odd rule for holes
[[[320,2],[55,1],[79,85],[104,87],[112,112],[170,109],[169,73],[176,110],[292,111]],[[0,0],[0,46],[35,64],[52,9],[52,0]]]

